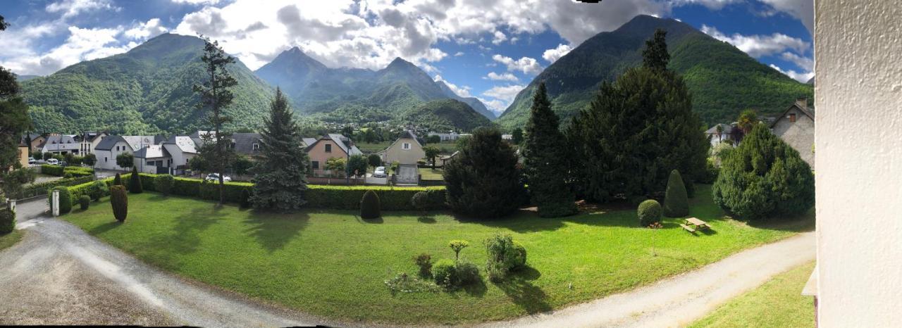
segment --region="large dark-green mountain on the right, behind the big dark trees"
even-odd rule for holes
[[[694,110],[704,123],[732,122],[748,108],[764,116],[779,114],[796,97],[814,93],[812,86],[686,23],[640,15],[615,31],[598,33],[545,68],[520,91],[497,123],[508,129],[523,126],[539,81],[545,81],[555,112],[565,118],[573,116],[592,101],[603,81],[613,81],[626,68],[641,64],[645,41],[658,28],[667,31],[670,68],[686,78]]]

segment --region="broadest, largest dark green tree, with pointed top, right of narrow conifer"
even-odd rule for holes
[[[666,59],[658,53],[659,42],[649,43],[647,66],[604,82],[566,130],[575,150],[571,176],[588,199],[658,195],[672,169],[683,173],[692,196],[694,182],[706,174],[710,142],[692,111],[683,77],[658,69]]]

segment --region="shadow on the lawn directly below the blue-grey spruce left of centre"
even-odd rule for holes
[[[244,213],[247,214],[244,223],[252,225],[245,232],[250,232],[260,245],[271,253],[284,248],[310,222],[310,215],[306,212],[270,214],[248,211]]]

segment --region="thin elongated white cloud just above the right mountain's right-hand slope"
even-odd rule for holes
[[[773,33],[771,35],[741,35],[739,33],[733,33],[732,35],[726,35],[713,26],[704,24],[702,25],[702,32],[710,35],[714,39],[729,42],[736,48],[739,48],[739,50],[745,51],[749,56],[754,58],[770,56],[786,50],[805,52],[805,50],[811,48],[811,43],[782,33]]]

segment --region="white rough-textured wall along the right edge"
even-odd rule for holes
[[[902,6],[815,1],[818,315],[902,324]]]

